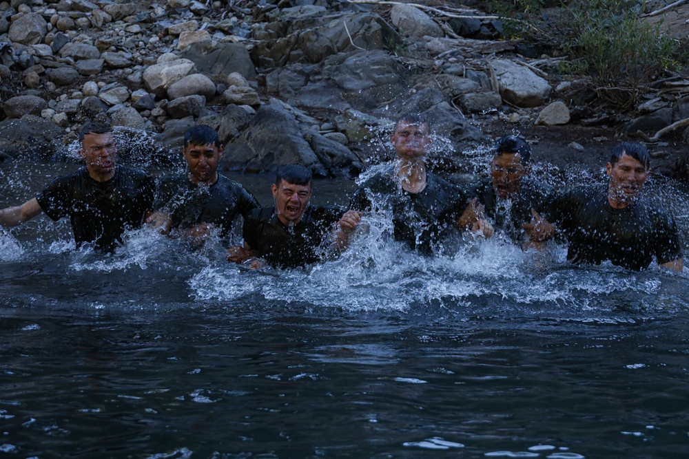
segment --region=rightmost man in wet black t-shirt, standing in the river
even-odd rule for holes
[[[569,242],[567,259],[641,270],[655,257],[681,271],[683,257],[675,220],[640,195],[649,173],[648,150],[637,142],[613,149],[606,164],[607,186],[576,186],[555,198],[552,222]]]

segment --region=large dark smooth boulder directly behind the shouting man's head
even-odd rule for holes
[[[263,105],[239,138],[227,146],[223,170],[265,172],[283,164],[303,164],[317,175],[327,175],[299,123],[278,104]]]

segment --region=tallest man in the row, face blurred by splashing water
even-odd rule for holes
[[[414,114],[402,116],[395,123],[390,140],[395,163],[360,183],[350,209],[359,213],[391,209],[393,239],[424,255],[435,251],[449,226],[471,228],[486,236],[493,234],[491,224],[482,217],[475,201],[467,206],[464,190],[426,169],[426,151],[432,140],[425,118]],[[464,211],[460,218],[457,209]],[[359,222],[360,217],[351,224]]]

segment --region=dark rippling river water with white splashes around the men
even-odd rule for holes
[[[0,206],[65,169],[1,164]],[[500,237],[423,258],[372,220],[341,259],[254,272],[146,230],[109,257],[67,222],[0,230],[0,456],[689,456],[686,274]]]

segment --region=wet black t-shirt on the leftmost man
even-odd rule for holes
[[[125,230],[141,226],[155,189],[154,180],[142,171],[118,166],[112,179],[98,182],[82,167],[50,182],[36,198],[52,220],[70,216],[77,246],[93,242],[110,251],[121,244]]]

